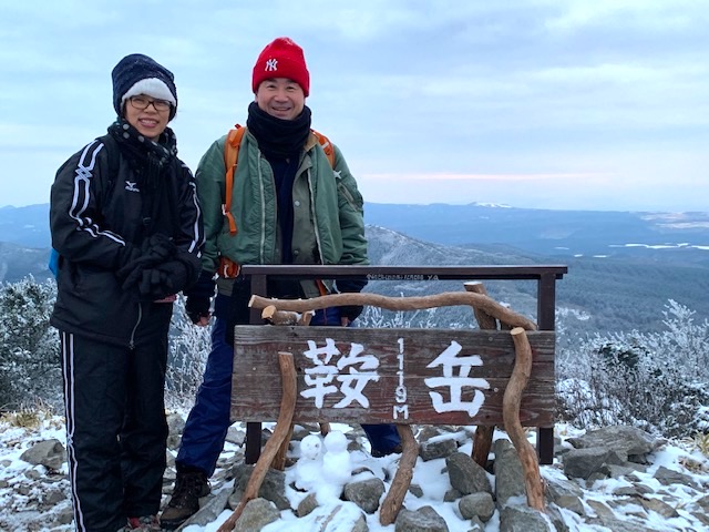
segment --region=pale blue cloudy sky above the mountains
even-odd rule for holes
[[[129,53],[174,72],[195,170],[287,35],[367,202],[708,211],[708,28],[709,0],[0,0],[0,206],[49,202]]]

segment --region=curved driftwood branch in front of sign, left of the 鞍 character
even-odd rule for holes
[[[280,375],[282,378],[284,395],[280,400],[280,413],[278,416],[276,429],[274,430],[270,439],[266,442],[264,452],[254,467],[254,471],[251,472],[251,477],[246,484],[246,489],[244,490],[244,495],[242,495],[239,505],[236,507],[236,510],[234,510],[232,515],[229,515],[229,518],[222,524],[222,526],[219,526],[217,532],[232,532],[232,530],[234,530],[234,526],[236,526],[236,522],[239,520],[242,513],[244,512],[246,503],[258,497],[258,491],[260,490],[261,483],[266,478],[268,468],[278,453],[278,450],[280,449],[282,442],[290,433],[297,396],[296,365],[294,364],[292,354],[279,352],[278,364],[280,366]]]

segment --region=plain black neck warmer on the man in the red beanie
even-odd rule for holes
[[[271,116],[256,102],[251,102],[246,126],[256,137],[264,155],[286,158],[297,154],[310,135],[310,109],[304,106],[302,112],[294,120],[282,120]]]

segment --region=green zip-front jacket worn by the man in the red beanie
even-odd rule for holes
[[[230,211],[237,233],[229,234],[222,213],[226,192],[225,142],[226,135],[212,144],[195,175],[204,211],[203,267],[216,272],[220,256],[242,265],[281,264],[274,175],[248,131],[242,139],[232,194]],[[300,153],[292,185],[294,264],[369,264],[362,196],[342,153],[333,147],[335,168],[314,134]],[[307,297],[319,295],[315,283],[302,285]]]

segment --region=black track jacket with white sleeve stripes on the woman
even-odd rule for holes
[[[144,188],[144,190],[141,190]],[[148,197],[154,194],[154,197]],[[116,270],[151,234],[172,236],[181,253],[199,256],[202,214],[189,168],[175,158],[156,191],[141,187],[115,141],[104,135],[72,155],[52,185],[52,246],[60,255],[50,323],[58,329],[133,346],[167,334],[172,304],[138,303]],[[158,202],[144,222],[144,202]]]

